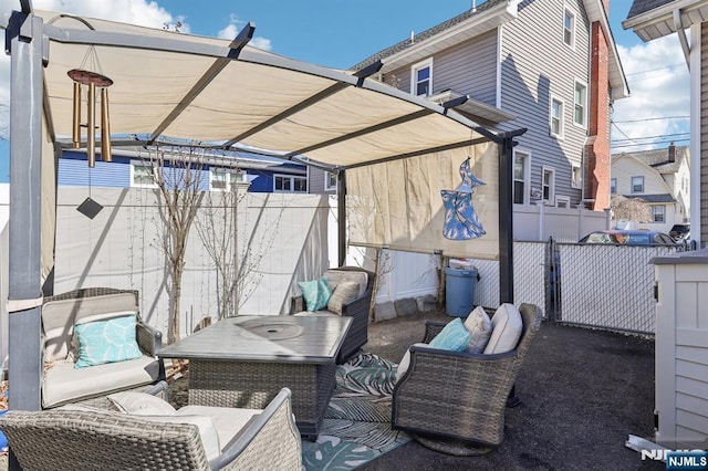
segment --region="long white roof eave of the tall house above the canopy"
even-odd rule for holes
[[[502,2],[488,10],[480,11],[479,14],[470,17],[438,34],[410,44],[404,51],[384,57],[384,66],[381,72],[391,72],[403,65],[421,61],[449,48],[451,45],[450,39],[454,39],[455,43],[460,43],[510,22],[518,17],[518,2],[516,1]]]

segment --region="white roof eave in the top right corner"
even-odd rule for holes
[[[674,11],[680,10],[681,24],[689,28],[708,19],[708,0],[677,0],[645,11],[622,22],[625,30],[632,29],[642,41],[647,42],[676,32]]]

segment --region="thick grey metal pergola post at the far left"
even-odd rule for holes
[[[42,29],[40,17],[13,12],[6,31],[10,78],[10,278],[9,301],[42,296]],[[11,312],[10,409],[41,408],[41,303]],[[12,311],[12,310],[10,310]]]

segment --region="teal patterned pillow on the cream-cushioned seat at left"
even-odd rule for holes
[[[74,325],[79,359],[74,368],[124,362],[143,356],[135,339],[134,315]]]

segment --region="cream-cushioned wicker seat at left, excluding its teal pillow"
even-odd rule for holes
[[[95,405],[110,393],[137,389],[164,397],[165,367],[156,357],[162,333],[139,316],[138,292],[87,287],[44,297],[42,305],[42,408],[70,402]],[[142,356],[125,362],[75,368],[79,323],[136,315],[135,339]]]

